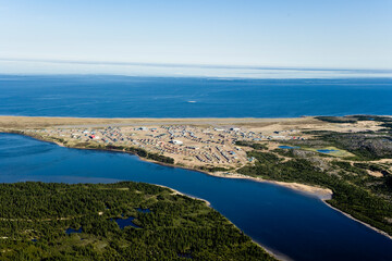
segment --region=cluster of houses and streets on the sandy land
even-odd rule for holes
[[[142,148],[163,154],[184,165],[235,167],[252,161],[246,148],[236,141],[304,139],[295,129],[257,132],[236,126],[107,126],[100,128],[29,129],[45,137],[57,137],[68,142],[96,142]]]

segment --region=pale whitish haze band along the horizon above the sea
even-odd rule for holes
[[[212,78],[392,78],[392,70],[301,69],[53,60],[1,60],[0,75],[99,74]]]

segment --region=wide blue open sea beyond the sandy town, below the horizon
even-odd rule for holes
[[[392,78],[1,76],[0,115],[293,117],[392,114]]]

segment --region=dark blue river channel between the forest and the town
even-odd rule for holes
[[[256,241],[294,260],[392,260],[392,240],[287,188],[0,134],[0,182],[23,181],[160,184],[210,201]]]

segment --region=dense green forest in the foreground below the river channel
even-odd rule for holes
[[[204,201],[169,188],[132,182],[0,187],[1,260],[274,260]],[[138,227],[120,228],[115,219],[130,216]]]

